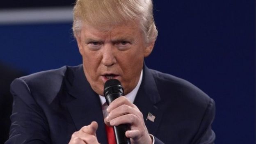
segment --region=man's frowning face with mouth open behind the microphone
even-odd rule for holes
[[[121,82],[124,94],[132,91],[139,81],[144,57],[151,53],[154,44],[145,44],[134,23],[107,31],[84,25],[77,40],[85,76],[92,89],[102,96],[104,84],[110,78]]]

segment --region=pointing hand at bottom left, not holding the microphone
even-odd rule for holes
[[[82,127],[79,131],[73,133],[69,144],[99,144],[96,137],[98,123],[91,122],[90,125]]]

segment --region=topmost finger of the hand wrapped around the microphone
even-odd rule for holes
[[[113,109],[119,107],[120,105],[129,105],[130,107],[136,107],[126,97],[120,96],[119,98],[112,101],[112,103],[110,103],[110,105],[107,107],[107,112],[111,112]]]

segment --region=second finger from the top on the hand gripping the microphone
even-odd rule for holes
[[[105,118],[106,122],[110,122],[110,120],[125,115],[125,114],[135,114],[135,115],[139,115],[140,111],[130,107],[129,105],[121,105],[115,109],[113,109]]]

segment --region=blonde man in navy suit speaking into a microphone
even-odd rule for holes
[[[212,144],[214,101],[189,82],[148,69],[157,30],[151,0],[77,0],[73,32],[83,64],[14,80],[11,143],[111,143],[128,124],[132,144]],[[104,83],[124,95],[108,107]]]

